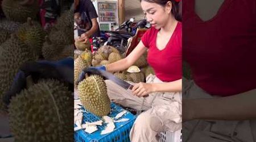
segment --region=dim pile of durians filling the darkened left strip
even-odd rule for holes
[[[0,20],[0,109],[9,112],[15,141],[72,141],[73,122],[68,121],[73,118],[73,97],[62,82],[32,83],[11,99],[9,107],[2,98],[20,65],[73,57],[73,10],[61,13],[46,31],[37,17],[38,0],[3,0],[1,7],[6,18]]]

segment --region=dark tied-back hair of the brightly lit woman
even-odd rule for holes
[[[182,20],[182,1],[176,2],[175,0],[139,0],[150,2],[150,3],[157,3],[161,6],[166,6],[166,3],[170,1],[172,3],[172,14],[174,14],[174,17],[176,20],[181,21]]]

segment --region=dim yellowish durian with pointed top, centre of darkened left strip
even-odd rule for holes
[[[28,45],[35,56],[40,56],[42,54],[42,46],[46,32],[44,32],[40,23],[32,21],[31,18],[27,18],[27,22],[19,27],[16,35],[19,40]]]

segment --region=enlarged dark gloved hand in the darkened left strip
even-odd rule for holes
[[[26,78],[28,76],[32,77],[34,83],[37,83],[39,79],[43,78],[59,80],[60,82],[64,82],[65,85],[68,85],[69,90],[73,91],[73,68],[74,60],[70,57],[60,61],[27,62],[20,67],[13,84],[3,97],[3,102],[8,106],[11,97],[14,97],[26,88]]]

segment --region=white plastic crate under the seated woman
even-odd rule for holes
[[[162,132],[160,136],[159,142],[182,142],[182,130],[176,132]]]

